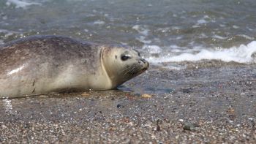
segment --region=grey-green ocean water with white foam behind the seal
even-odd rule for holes
[[[0,0],[0,44],[57,34],[128,45],[170,69],[255,64],[255,7],[255,0]]]

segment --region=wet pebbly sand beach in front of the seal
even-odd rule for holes
[[[119,90],[1,99],[0,143],[255,143],[255,87],[254,65],[154,66]]]

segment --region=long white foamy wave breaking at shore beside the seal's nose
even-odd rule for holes
[[[254,53],[256,53],[256,41],[252,41],[248,45],[240,45],[239,47],[232,47],[221,50],[208,50],[205,48],[200,48],[197,53],[183,52],[174,56],[165,54],[165,56],[160,56],[158,58],[151,56],[148,58],[148,61],[152,63],[162,63],[200,61],[206,59],[220,60],[225,62],[235,61],[238,63],[249,64],[255,62],[255,58],[253,58]]]

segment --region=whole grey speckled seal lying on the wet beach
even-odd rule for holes
[[[132,48],[32,36],[0,47],[0,97],[109,90],[148,66]]]

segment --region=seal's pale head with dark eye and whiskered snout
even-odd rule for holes
[[[105,47],[102,50],[102,61],[113,88],[136,77],[148,69],[148,61],[132,48]]]

